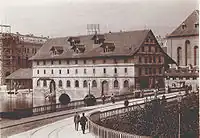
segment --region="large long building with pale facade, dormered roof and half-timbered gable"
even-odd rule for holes
[[[31,58],[33,91],[40,96],[66,92],[83,99],[164,87],[164,65],[174,61],[151,30],[114,32],[47,41]]]

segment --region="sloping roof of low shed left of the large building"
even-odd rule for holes
[[[20,68],[6,77],[7,80],[32,79],[33,71],[31,68]]]

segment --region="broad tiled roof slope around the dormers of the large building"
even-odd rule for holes
[[[105,41],[113,42],[115,45],[114,51],[108,53],[103,53],[100,44],[94,44],[93,35],[77,36],[80,38],[80,43],[85,45],[85,52],[80,54],[75,54],[71,49],[72,46],[67,41],[70,37],[53,38],[48,40],[30,60],[130,56],[141,46],[149,32],[151,31],[138,30],[103,34]],[[52,56],[49,52],[52,46],[62,46],[64,52]]]

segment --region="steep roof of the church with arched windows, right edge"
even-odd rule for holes
[[[195,10],[190,14],[185,21],[183,21],[170,35],[167,37],[181,37],[181,36],[198,36],[199,27],[195,28],[195,24],[199,24],[199,10]],[[185,28],[182,28],[185,25]]]

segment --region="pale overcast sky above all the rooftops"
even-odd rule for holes
[[[197,0],[0,0],[0,23],[50,37],[86,34],[87,24],[100,24],[101,32],[148,28],[164,36],[197,8]]]

